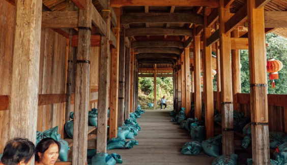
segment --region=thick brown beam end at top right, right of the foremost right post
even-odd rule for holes
[[[265,11],[264,18],[267,28],[287,28],[287,11]]]

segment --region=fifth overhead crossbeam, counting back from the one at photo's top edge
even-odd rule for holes
[[[135,48],[135,53],[171,53],[171,54],[180,54],[179,48]]]

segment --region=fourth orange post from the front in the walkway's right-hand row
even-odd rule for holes
[[[194,29],[194,33],[196,30]],[[193,37],[193,62],[194,62],[194,116],[202,118],[202,90],[200,79],[200,36]]]

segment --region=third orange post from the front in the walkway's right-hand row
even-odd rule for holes
[[[216,10],[216,9],[215,9]],[[204,8],[204,100],[205,100],[205,126],[206,138],[214,137],[214,107],[213,107],[213,81],[211,46],[207,46],[207,39],[211,36],[211,28],[207,27],[207,17],[210,8]]]

